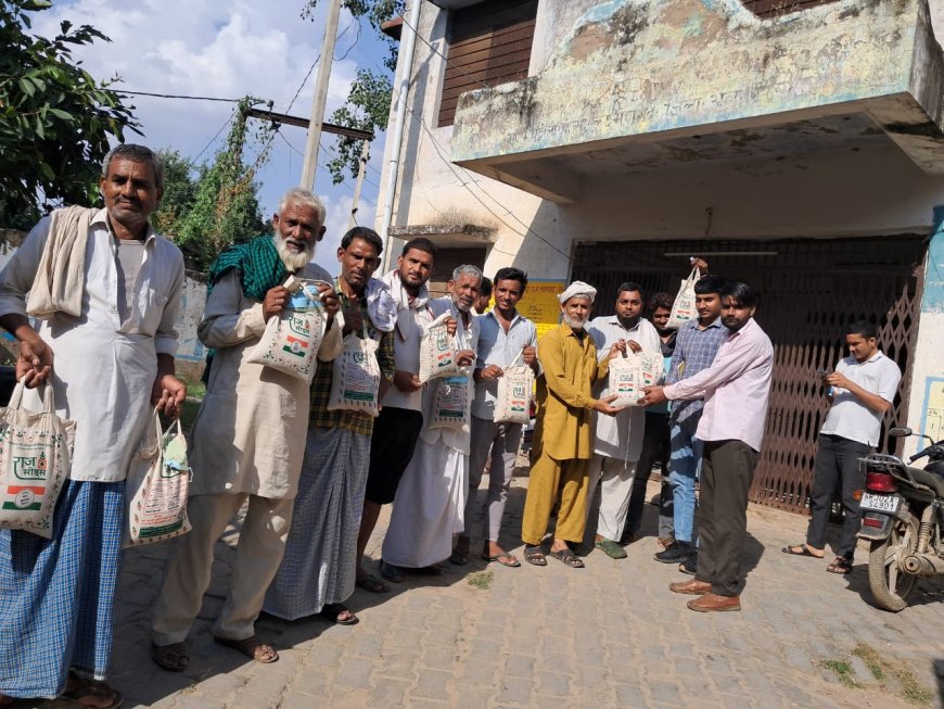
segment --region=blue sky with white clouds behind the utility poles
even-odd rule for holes
[[[304,7],[305,0],[60,1],[50,10],[31,13],[31,31],[52,37],[63,20],[74,25],[90,24],[102,31],[111,42],[99,40],[77,48],[74,56],[99,80],[120,77],[115,87],[119,91],[225,99],[252,94],[275,101],[277,112],[307,117],[318,74],[312,64],[324,36],[327,0],[320,0],[310,18],[302,17]],[[329,122],[347,97],[356,67],[379,68],[383,52],[373,29],[365,23],[358,31],[358,23],[342,11],[324,112]],[[155,150],[174,149],[197,161],[212,160],[225,147],[234,106],[226,102],[138,96],[129,97],[125,103],[136,106],[133,113],[143,134],[127,131],[126,142],[140,142]],[[250,119],[250,136],[255,135],[259,125]],[[275,137],[269,160],[257,177],[267,218],[278,208],[281,194],[298,185],[306,138],[304,128],[293,126],[282,126]],[[328,232],[318,245],[315,261],[336,273],[335,251],[347,230],[354,179],[348,178],[340,186],[332,183],[323,165],[331,160],[329,151],[333,150],[334,138],[322,134],[321,145],[315,192],[328,207]],[[244,159],[255,161],[260,147],[251,139]],[[371,147],[357,212],[358,224],[370,227],[379,200],[382,157],[381,135]]]

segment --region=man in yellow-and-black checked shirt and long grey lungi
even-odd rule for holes
[[[396,303],[386,284],[371,278],[382,251],[383,241],[373,229],[355,227],[341,239],[341,275],[333,283],[344,313],[345,341],[368,338],[377,343],[375,354],[366,355],[375,357],[381,375],[371,392],[375,402],[386,393],[396,370]],[[334,375],[328,366],[315,372],[292,529],[263,610],[285,620],[319,613],[350,625],[358,619],[343,602],[354,593],[374,419],[367,410],[328,409]]]

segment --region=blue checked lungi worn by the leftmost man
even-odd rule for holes
[[[125,483],[67,480],[51,540],[0,530],[0,694],[52,698],[69,668],[104,680]]]

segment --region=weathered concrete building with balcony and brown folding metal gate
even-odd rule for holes
[[[524,268],[546,326],[567,279],[609,312],[624,280],[675,292],[692,254],[757,288],[777,357],[758,502],[805,505],[815,371],[851,319],[876,318],[905,371],[886,425],[944,438],[936,5],[409,0],[405,39],[414,2],[382,193],[397,180],[392,237],[441,246],[434,279]]]

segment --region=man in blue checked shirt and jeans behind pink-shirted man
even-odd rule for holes
[[[703,263],[703,262],[702,262]],[[701,265],[701,264],[699,264]],[[706,265],[705,265],[706,266]],[[665,383],[674,384],[707,369],[722,346],[727,330],[722,325],[720,291],[725,280],[720,276],[704,276],[694,284],[694,304],[698,317],[678,329],[672,366]],[[678,564],[694,572],[694,483],[701,464],[702,442],[696,438],[704,401],[676,401],[672,404],[669,431],[672,456],[668,481],[672,484],[675,542],[655,555],[656,561]],[[692,558],[689,559],[689,555]]]

